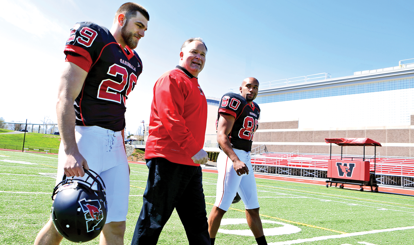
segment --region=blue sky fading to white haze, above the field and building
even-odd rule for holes
[[[69,30],[78,21],[111,28],[124,1],[0,0],[0,117],[56,122],[55,100]],[[397,66],[414,58],[414,2],[404,1],[156,1],[144,0],[150,21],[135,49],[143,72],[127,100],[127,130],[149,120],[156,79],[178,64],[183,41],[208,48],[199,83],[220,98],[254,76],[260,82],[328,72]]]

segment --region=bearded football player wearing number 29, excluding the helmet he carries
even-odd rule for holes
[[[62,138],[56,183],[64,173],[84,179],[83,167],[101,176],[108,202],[101,245],[123,244],[129,195],[125,100],[142,72],[141,59],[133,49],[144,37],[148,21],[144,7],[127,2],[116,12],[110,31],[79,22],[70,30],[65,46],[56,105]],[[72,225],[76,224],[67,227]],[[49,220],[34,244],[59,244],[62,239]]]

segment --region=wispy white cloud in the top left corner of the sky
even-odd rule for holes
[[[31,2],[26,0],[0,0],[0,17],[20,29],[39,37],[49,33],[65,33],[53,20],[45,15]],[[54,35],[53,35],[54,36]]]

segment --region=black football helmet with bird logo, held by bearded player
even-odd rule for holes
[[[56,230],[67,240],[84,243],[101,233],[108,207],[105,184],[94,171],[84,169],[85,180],[66,179],[53,190],[52,221]]]

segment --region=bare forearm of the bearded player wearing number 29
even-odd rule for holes
[[[56,104],[60,138],[67,155],[79,152],[75,139],[75,109],[73,101],[68,98],[58,98]]]

